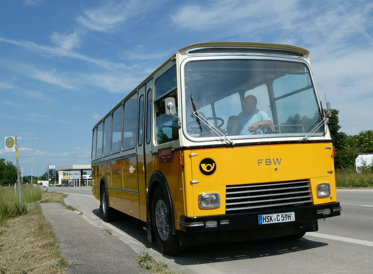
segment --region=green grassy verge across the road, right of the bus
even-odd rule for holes
[[[337,170],[335,182],[337,187],[373,187],[373,174],[359,174],[354,170]]]

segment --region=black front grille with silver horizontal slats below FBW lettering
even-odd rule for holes
[[[226,213],[310,204],[308,180],[226,186]]]

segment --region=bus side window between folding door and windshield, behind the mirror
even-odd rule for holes
[[[156,143],[163,144],[179,139],[178,119],[178,95],[177,90],[163,96],[154,103],[154,112],[156,116]],[[164,99],[167,97],[175,98],[176,113],[175,116],[166,114]]]

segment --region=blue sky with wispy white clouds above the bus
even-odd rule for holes
[[[341,131],[372,130],[373,2],[3,0],[0,137],[23,174],[89,164],[94,124],[182,47],[203,41],[311,50]],[[15,153],[0,146],[0,158]],[[39,171],[37,171],[39,169]]]

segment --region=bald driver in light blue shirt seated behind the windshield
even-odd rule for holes
[[[273,125],[267,113],[257,109],[257,99],[254,95],[246,96],[242,103],[244,111],[238,114],[230,135],[257,134],[260,130],[265,133],[265,126]]]

